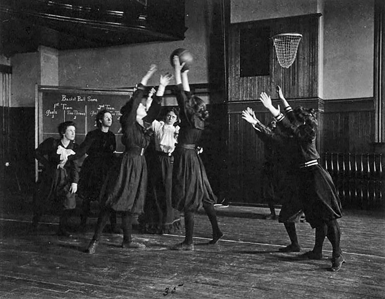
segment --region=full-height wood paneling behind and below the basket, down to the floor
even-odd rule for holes
[[[320,132],[318,150],[323,147],[323,101],[318,99],[318,29],[319,14],[277,18],[232,24],[229,29],[229,99],[228,99],[228,173],[229,198],[233,202],[262,203],[261,170],[264,146],[249,123],[241,118],[241,111],[251,107],[263,123],[271,121],[271,114],[258,101],[261,92],[278,98],[280,85],[293,107],[301,105],[318,111]],[[239,38],[243,29],[270,28],[270,36],[278,33],[302,34],[296,59],[288,69],[281,67],[271,40],[269,76],[240,77]],[[255,49],[258,55],[258,49]],[[278,104],[278,102],[276,102]]]

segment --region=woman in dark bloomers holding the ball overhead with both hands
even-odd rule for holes
[[[206,170],[197,151],[208,111],[202,99],[190,94],[188,70],[181,73],[183,66],[184,63],[180,64],[178,56],[174,56],[175,81],[178,89],[176,99],[180,109],[181,129],[174,151],[172,206],[180,212],[184,212],[186,236],[182,243],[174,245],[172,249],[194,250],[192,242],[194,213],[200,207],[203,206],[213,228],[213,239],[209,241],[209,244],[216,244],[224,234],[218,227],[214,210],[217,198],[211,189]]]

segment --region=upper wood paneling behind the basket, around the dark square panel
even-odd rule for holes
[[[229,30],[229,102],[253,101],[262,91],[276,97],[276,85],[281,86],[288,99],[317,97],[319,16],[314,14],[232,24]],[[281,67],[271,40],[269,76],[240,77],[239,32],[259,27],[270,27],[271,36],[287,32],[302,34],[296,59],[288,69]],[[258,49],[255,49],[255,55],[258,55]]]

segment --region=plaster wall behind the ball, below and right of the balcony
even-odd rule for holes
[[[176,42],[154,42],[99,49],[59,52],[59,85],[90,88],[132,87],[141,81],[150,64],[158,66],[148,85],[159,82],[159,74],[172,72],[171,52],[179,47],[194,56],[190,83],[208,82],[206,44],[206,1],[186,0],[185,39]]]

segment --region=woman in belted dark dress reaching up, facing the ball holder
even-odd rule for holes
[[[145,86],[149,78],[156,71],[152,65],[143,77],[141,84],[132,95],[130,101],[121,108],[120,123],[122,126],[122,143],[126,149],[112,167],[100,192],[100,213],[96,223],[95,233],[87,248],[93,254],[99,242],[100,234],[109,217],[110,209],[122,212],[123,248],[144,248],[144,244],[132,241],[132,214],[143,213],[144,198],[147,188],[147,165],[144,151],[150,143],[147,130],[152,121],[158,116],[165,87],[171,80],[171,75],[161,76],[160,84],[146,111],[146,104],[142,104]]]

